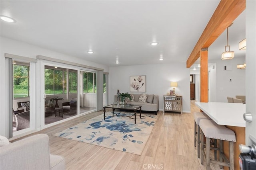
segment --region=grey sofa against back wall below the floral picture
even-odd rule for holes
[[[159,109],[159,97],[155,94],[148,94],[147,102],[139,102],[140,94],[133,94],[134,101],[127,102],[127,104],[140,105],[142,111],[154,111],[157,114]],[[114,102],[117,102],[117,94],[115,95]]]

